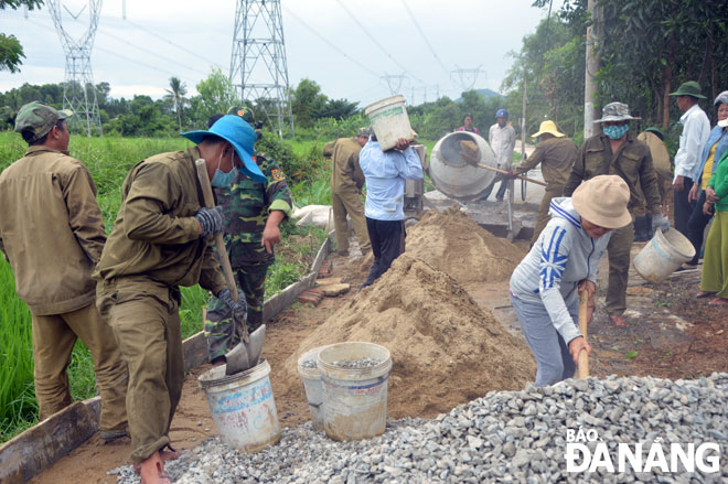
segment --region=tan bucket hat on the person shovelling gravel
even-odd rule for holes
[[[630,225],[632,216],[627,209],[630,187],[617,175],[599,175],[581,183],[571,195],[574,208],[581,218],[604,228]]]

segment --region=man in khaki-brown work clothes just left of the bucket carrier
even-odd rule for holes
[[[336,252],[349,255],[349,223],[346,214],[352,219],[354,233],[362,254],[372,250],[370,233],[366,229],[364,204],[362,203],[362,186],[364,173],[358,165],[358,153],[370,139],[368,128],[362,128],[355,138],[340,138],[323,147],[323,155],[331,158],[331,206],[334,213],[334,229],[336,232]]]

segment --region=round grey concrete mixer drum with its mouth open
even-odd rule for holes
[[[462,158],[461,141],[474,141],[480,162],[496,168],[495,153],[479,135],[456,131],[441,138],[430,155],[429,175],[435,186],[456,200],[480,197],[495,178],[495,173],[468,164]]]

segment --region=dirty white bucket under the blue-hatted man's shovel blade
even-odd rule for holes
[[[280,426],[270,387],[270,365],[225,375],[225,365],[197,378],[207,397],[215,428],[223,442],[243,452],[258,452],[280,440]]]

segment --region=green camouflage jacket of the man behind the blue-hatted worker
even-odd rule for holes
[[[278,163],[264,155],[254,159],[267,183],[238,173],[233,185],[215,189],[217,204],[225,214],[225,246],[233,267],[271,260],[272,255],[260,246],[268,214],[281,211],[286,216],[291,215],[291,193]]]

